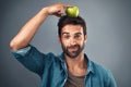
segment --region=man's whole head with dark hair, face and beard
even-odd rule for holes
[[[60,17],[58,22],[59,39],[63,52],[70,58],[76,58],[84,49],[87,39],[85,21],[67,15]]]

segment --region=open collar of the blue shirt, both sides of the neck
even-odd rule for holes
[[[87,74],[86,75],[88,75],[90,73],[94,74],[95,71],[94,71],[93,62],[87,58],[87,55],[85,53],[84,53],[84,58],[87,60]],[[60,54],[59,59],[61,62],[66,62],[63,52]]]

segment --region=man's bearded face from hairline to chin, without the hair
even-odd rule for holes
[[[76,58],[83,51],[86,39],[81,25],[66,25],[61,30],[60,42],[69,58]]]

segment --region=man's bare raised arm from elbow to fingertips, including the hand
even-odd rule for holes
[[[66,5],[63,3],[56,3],[41,9],[21,28],[19,34],[11,40],[10,48],[12,50],[19,50],[26,47],[46,17],[49,15],[61,16],[64,13],[67,7],[69,5]]]

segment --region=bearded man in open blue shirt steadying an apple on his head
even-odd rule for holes
[[[71,5],[56,3],[41,9],[11,40],[14,57],[41,78],[41,87],[117,87],[112,74],[84,53],[86,24],[80,16],[63,15]],[[49,15],[61,16],[58,34],[63,53],[41,53],[29,45]]]

